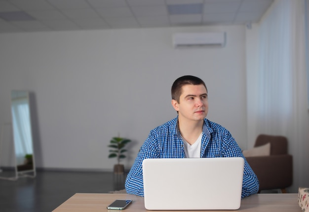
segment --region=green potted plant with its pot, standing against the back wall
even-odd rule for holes
[[[127,150],[124,149],[124,146],[131,142],[130,139],[121,138],[121,137],[113,137],[110,141],[109,147],[112,149],[110,150],[109,158],[117,158],[117,164],[114,166],[114,173],[123,173],[124,166],[120,164],[120,159],[125,158],[126,156],[123,154]]]

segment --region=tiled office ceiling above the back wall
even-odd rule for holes
[[[273,0],[0,0],[0,33],[256,23]]]

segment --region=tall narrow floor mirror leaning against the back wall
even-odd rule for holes
[[[28,91],[11,91],[16,179],[21,176],[36,176],[29,98]]]

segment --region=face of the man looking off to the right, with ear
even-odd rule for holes
[[[172,105],[182,120],[200,121],[208,113],[207,90],[204,85],[184,85],[179,102],[172,100]]]

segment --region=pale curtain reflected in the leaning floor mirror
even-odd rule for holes
[[[12,100],[12,119],[16,163],[21,165],[26,154],[33,154],[28,98]]]

